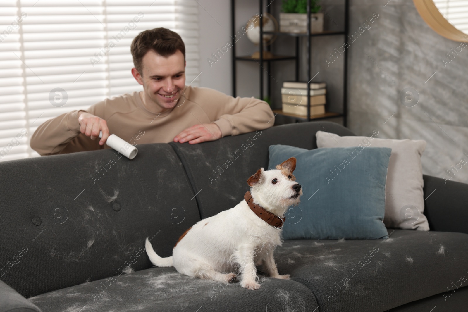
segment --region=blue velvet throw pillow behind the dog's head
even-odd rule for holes
[[[269,169],[295,157],[303,195],[285,213],[284,239],[381,239],[388,232],[385,182],[392,149],[269,147]],[[388,196],[388,195],[387,195]]]

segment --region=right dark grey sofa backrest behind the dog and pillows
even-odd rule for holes
[[[268,167],[268,146],[283,144],[311,150],[317,148],[315,132],[318,130],[353,135],[337,123],[310,122],[286,124],[195,145],[169,144],[182,160],[194,186],[201,217],[208,218],[243,200],[249,189],[247,179],[260,167]]]

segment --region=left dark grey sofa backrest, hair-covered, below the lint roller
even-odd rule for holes
[[[133,160],[106,149],[1,163],[8,178],[0,180],[0,228],[8,235],[0,278],[29,297],[129,265],[150,268],[146,237],[170,256],[200,220],[195,194],[168,144],[138,147]]]

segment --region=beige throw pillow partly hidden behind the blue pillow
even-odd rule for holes
[[[369,146],[391,148],[383,222],[386,227],[429,231],[427,218],[423,214],[424,181],[421,165],[421,155],[426,148],[426,141],[375,138],[378,133],[375,130],[369,137],[340,137],[334,133],[317,131],[315,136],[319,148],[350,146],[358,146],[359,150]]]

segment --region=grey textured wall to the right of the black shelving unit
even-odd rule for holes
[[[387,1],[351,1],[350,33],[374,12],[379,18],[349,48],[348,126],[358,135],[378,129],[380,138],[425,140],[424,173],[448,179],[446,170],[468,161],[468,47],[444,65],[460,43],[430,29],[413,1]],[[399,99],[407,87],[419,94],[414,107]],[[468,182],[468,164],[458,167],[451,180]]]

